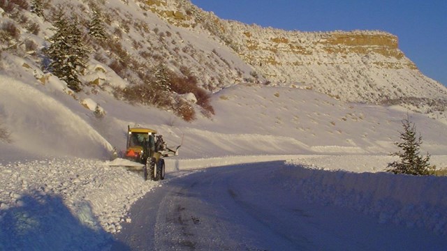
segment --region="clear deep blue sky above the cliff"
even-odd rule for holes
[[[298,31],[380,30],[447,86],[447,0],[191,0],[226,20]]]

